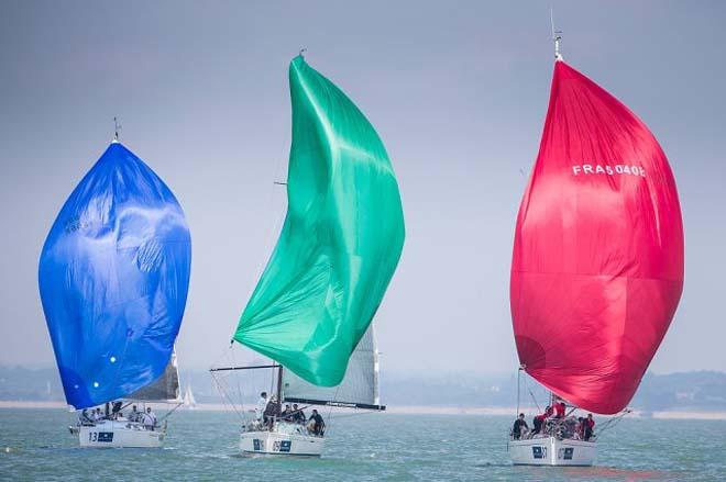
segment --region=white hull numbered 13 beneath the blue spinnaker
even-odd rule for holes
[[[164,445],[165,437],[165,427],[147,430],[139,424],[125,421],[105,421],[92,427],[78,427],[78,440],[81,447],[157,448]]]

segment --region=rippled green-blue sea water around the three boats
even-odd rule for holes
[[[0,410],[0,480],[715,481],[726,422],[625,419],[593,468],[512,467],[499,416],[333,416],[321,459],[238,456],[232,413],[177,412],[162,450],[80,449],[61,410]]]

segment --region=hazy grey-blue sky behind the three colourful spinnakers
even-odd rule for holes
[[[685,290],[651,368],[724,370],[726,3],[552,3],[565,60],[650,126],[675,171]],[[1,2],[0,362],[53,362],[37,259],[114,115],[191,228],[180,362],[219,359],[284,216],[287,65],[307,47],[398,175],[384,369],[514,371],[512,239],[549,97],[549,4]]]

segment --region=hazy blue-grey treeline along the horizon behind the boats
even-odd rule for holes
[[[197,403],[254,403],[258,392],[270,390],[272,377],[230,374],[212,379],[206,370],[182,370],[182,391],[191,385]],[[520,379],[519,405],[542,406],[547,392],[531,379]],[[223,395],[223,394],[224,395]],[[54,368],[29,369],[0,366],[0,401],[64,401]],[[399,406],[514,407],[517,404],[515,375],[476,373],[404,374],[381,377],[381,403]],[[669,374],[647,373],[630,403],[639,411],[726,410],[726,372],[692,371]]]

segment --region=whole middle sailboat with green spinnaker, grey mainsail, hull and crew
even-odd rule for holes
[[[404,245],[396,177],[351,100],[298,56],[289,68],[293,145],[283,232],[233,339],[276,361],[240,450],[320,456],[327,405],[384,410],[371,322]],[[286,410],[283,412],[283,404]]]

